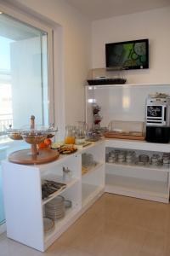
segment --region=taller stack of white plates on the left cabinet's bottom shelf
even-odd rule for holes
[[[65,216],[65,198],[61,195],[49,201],[45,206],[45,216],[54,220]]]

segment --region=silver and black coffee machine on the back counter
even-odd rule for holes
[[[146,137],[150,143],[170,141],[170,96],[156,94],[146,101]]]

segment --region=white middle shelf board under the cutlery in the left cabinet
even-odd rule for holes
[[[54,192],[52,195],[49,195],[49,197],[47,199],[43,199],[42,200],[42,205],[45,205],[46,203],[48,203],[48,201],[53,200],[57,195],[60,195],[66,189],[71,188],[72,186],[74,186],[78,182],[78,179],[74,178],[74,177],[72,177],[69,182],[65,182],[63,177],[57,176],[57,175],[51,176],[51,177],[50,176],[46,177],[46,179],[53,180],[53,181],[56,181],[56,182],[59,182],[59,183],[65,183],[66,184],[66,188],[65,189],[59,189],[58,191]]]

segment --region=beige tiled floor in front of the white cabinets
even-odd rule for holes
[[[46,253],[0,236],[0,256],[170,256],[170,205],[105,194]]]

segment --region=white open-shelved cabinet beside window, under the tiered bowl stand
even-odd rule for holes
[[[99,162],[94,170],[82,177],[82,153],[94,154]],[[66,188],[42,200],[42,179],[61,183],[63,167],[72,177]],[[45,251],[105,190],[105,142],[93,143],[77,153],[59,156],[45,165],[24,166],[3,161],[3,194],[7,236],[37,250]],[[72,202],[65,217],[55,221],[54,230],[43,232],[44,207],[57,195]]]

